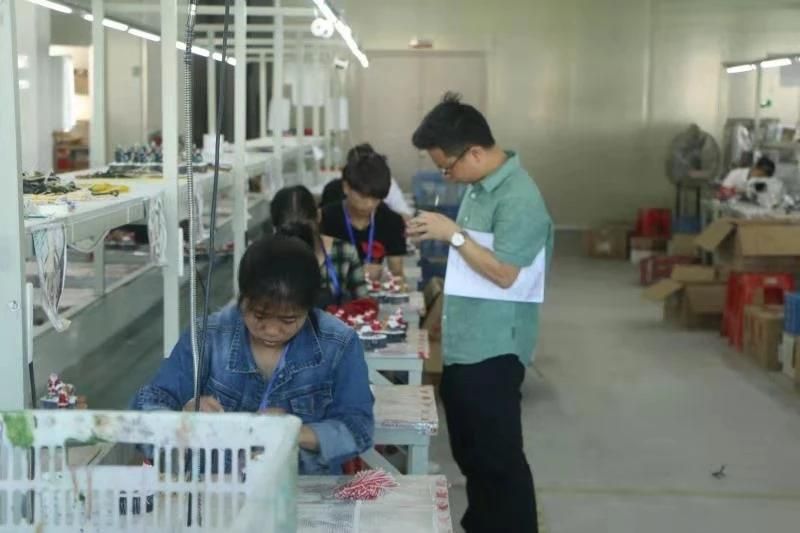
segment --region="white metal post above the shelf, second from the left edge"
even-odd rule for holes
[[[106,164],[106,35],[103,0],[92,0],[92,119],[89,122],[89,163]]]

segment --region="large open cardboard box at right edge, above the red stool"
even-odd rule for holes
[[[800,272],[800,224],[720,219],[695,243],[734,272]]]

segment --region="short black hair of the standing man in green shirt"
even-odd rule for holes
[[[425,116],[411,142],[418,150],[439,148],[449,156],[459,156],[470,146],[495,145],[486,118],[471,105],[462,103],[461,95],[451,92]]]

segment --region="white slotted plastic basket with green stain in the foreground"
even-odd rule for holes
[[[0,531],[294,532],[299,431],[235,413],[2,413]],[[153,465],[69,464],[93,443],[141,445]]]

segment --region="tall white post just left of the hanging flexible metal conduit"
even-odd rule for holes
[[[180,336],[180,279],[183,243],[180,237],[178,184],[178,8],[161,0],[161,115],[164,153],[164,211],[167,223],[167,264],[164,275],[164,356]]]

